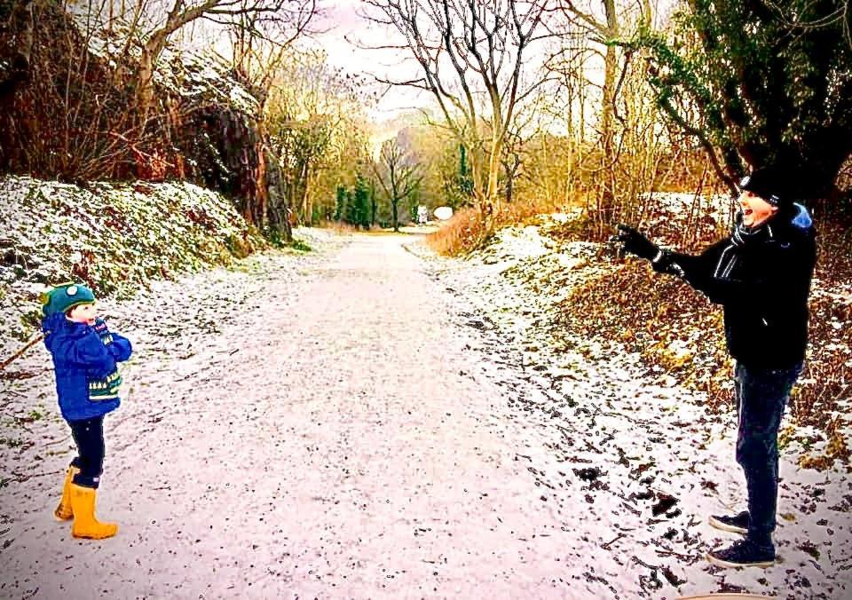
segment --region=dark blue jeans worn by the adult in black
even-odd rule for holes
[[[738,405],[737,462],[746,473],[748,539],[772,547],[778,501],[778,427],[801,363],[784,369],[750,369],[738,364],[734,383]]]

